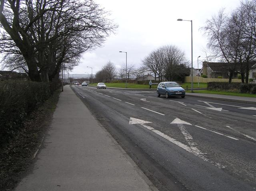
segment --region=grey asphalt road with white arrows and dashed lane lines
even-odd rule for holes
[[[256,108],[72,86],[159,190],[256,190]]]

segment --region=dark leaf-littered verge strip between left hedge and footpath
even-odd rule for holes
[[[25,126],[0,148],[0,191],[12,190],[26,173],[52,120],[60,91],[32,112]]]

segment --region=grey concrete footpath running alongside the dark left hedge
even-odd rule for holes
[[[88,108],[64,86],[30,173],[16,191],[157,191]]]

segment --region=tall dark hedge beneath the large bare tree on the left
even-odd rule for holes
[[[51,96],[55,83],[0,81],[0,146],[23,127],[24,119]]]

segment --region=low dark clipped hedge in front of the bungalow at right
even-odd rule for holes
[[[254,83],[227,83],[227,82],[208,82],[208,90],[231,91],[239,93],[256,94],[256,84]]]

